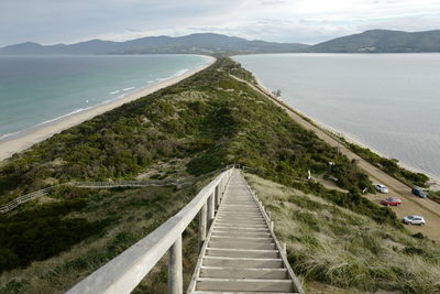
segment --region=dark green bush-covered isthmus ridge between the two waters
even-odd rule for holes
[[[204,153],[189,163],[194,174],[240,162],[292,182],[305,178],[308,170],[323,173],[333,161],[343,187],[370,186],[355,164],[229,72],[246,76],[221,58],[173,87],[15,154],[0,167],[0,203],[74,179],[133,177],[154,162],[199,152]]]

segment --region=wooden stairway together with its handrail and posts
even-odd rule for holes
[[[175,216],[67,293],[131,293],[167,254],[167,293],[183,294],[182,236],[196,218],[200,254],[188,293],[304,293],[273,235],[273,222],[234,167],[223,171]]]

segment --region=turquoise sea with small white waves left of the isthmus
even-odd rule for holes
[[[0,140],[207,62],[198,55],[0,55]]]

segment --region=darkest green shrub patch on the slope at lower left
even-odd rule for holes
[[[46,204],[0,220],[0,272],[45,260],[98,233],[105,221],[65,218],[86,206],[84,199]]]

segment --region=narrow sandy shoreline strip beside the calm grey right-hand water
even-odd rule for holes
[[[328,135],[332,137],[340,144],[343,144],[343,142],[340,141],[340,138],[342,138],[343,140],[345,140],[349,143],[359,145],[361,148],[370,149],[373,153],[375,153],[375,154],[377,154],[377,155],[380,155],[382,157],[391,159],[389,156],[384,155],[380,151],[369,146],[366,143],[363,143],[363,142],[360,142],[359,140],[353,139],[352,137],[350,137],[349,134],[342,132],[341,130],[338,130],[338,129],[334,129],[332,127],[329,127],[329,126],[327,126],[327,124],[324,124],[324,123],[322,123],[322,122],[320,122],[320,121],[318,121],[316,119],[312,119],[312,118],[306,116],[305,113],[298,111],[296,108],[294,108],[290,105],[288,105],[285,100],[273,97],[272,94],[271,94],[271,89],[268,87],[266,87],[264,85],[264,83],[262,83],[262,80],[258,79],[256,76],[254,76],[254,77],[255,77],[255,80],[256,80],[256,84],[257,84],[257,86],[256,86],[257,88],[260,88],[266,95],[271,96],[278,104],[283,105],[284,107],[288,108],[290,111],[295,112],[301,119],[306,120],[310,124],[312,124],[316,128],[320,129],[322,132],[324,132]],[[429,189],[435,190],[435,192],[440,190],[440,177],[438,177],[436,175],[432,175],[430,173],[427,173],[426,171],[421,171],[421,170],[419,170],[417,167],[414,167],[414,166],[411,166],[409,164],[406,164],[406,163],[402,162],[399,159],[397,159],[397,160],[399,161],[398,165],[400,167],[403,167],[405,170],[408,170],[410,172],[414,172],[414,173],[422,173],[426,176],[428,176],[429,179],[427,182],[427,185],[429,186]]]

